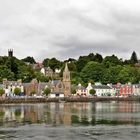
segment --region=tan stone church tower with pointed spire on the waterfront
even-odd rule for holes
[[[67,97],[68,95],[71,95],[70,71],[68,69],[67,63],[65,64],[65,69],[63,72],[63,85],[64,85],[64,96]]]

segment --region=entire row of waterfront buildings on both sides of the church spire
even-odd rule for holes
[[[14,89],[16,87],[21,89],[20,95],[31,95],[32,91],[35,91],[38,95],[42,95],[45,87],[51,89],[50,97],[64,97],[71,95],[70,90],[68,94],[64,93],[64,84],[61,80],[52,80],[48,83],[42,82],[38,83],[37,80],[32,80],[30,83],[22,83],[21,80],[18,81],[7,81],[4,80],[0,87],[5,89],[6,96],[13,96]],[[70,88],[70,86],[68,86]],[[140,84],[107,84],[102,85],[101,83],[95,83],[94,85],[88,83],[87,87],[78,84],[76,86],[75,96],[91,96],[90,90],[94,89],[96,91],[96,96],[139,96],[140,95]]]

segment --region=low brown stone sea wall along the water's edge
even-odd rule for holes
[[[110,101],[137,101],[140,97],[64,97],[64,98],[6,98],[0,99],[0,104],[21,103],[48,103],[48,102],[110,102]]]

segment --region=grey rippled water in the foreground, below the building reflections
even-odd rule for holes
[[[139,140],[140,126],[45,127],[27,125],[0,130],[4,140]]]

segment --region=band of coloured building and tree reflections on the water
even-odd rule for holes
[[[48,103],[1,105],[0,126],[140,124],[138,102]]]

